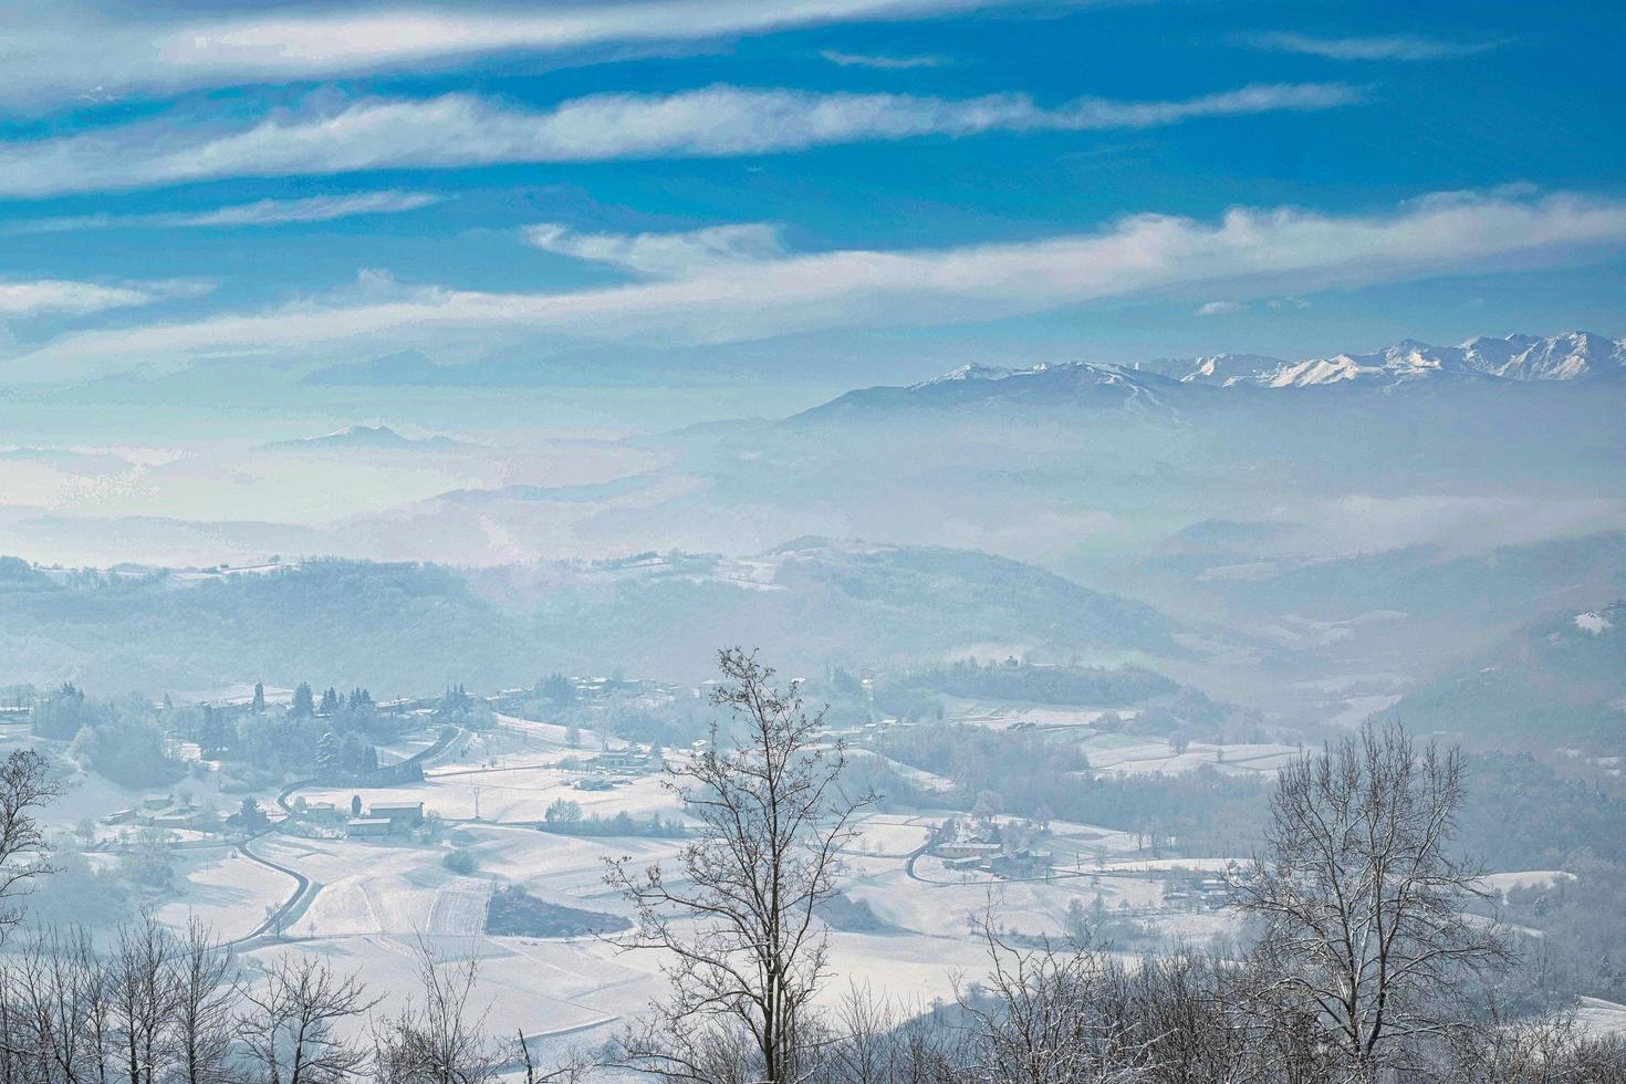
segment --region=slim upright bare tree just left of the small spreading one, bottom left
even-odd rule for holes
[[[236,1009],[242,995],[237,964],[208,926],[192,918],[169,962],[171,1040],[184,1084],[229,1084]]]

